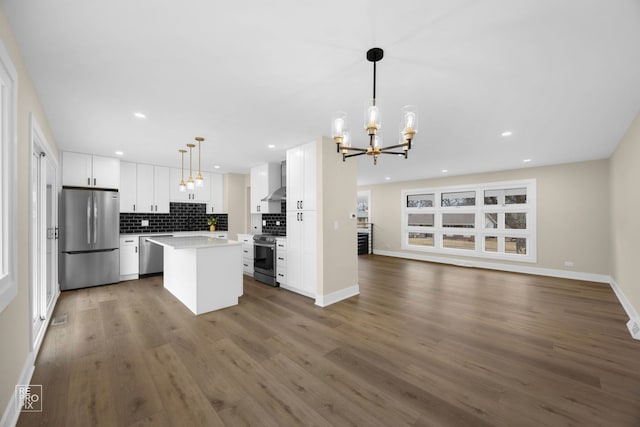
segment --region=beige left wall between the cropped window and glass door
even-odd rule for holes
[[[33,113],[49,145],[57,152],[31,79],[22,62],[4,10],[0,8],[0,40],[18,71],[18,296],[0,313],[0,417],[6,409],[30,352],[29,325],[29,113]]]

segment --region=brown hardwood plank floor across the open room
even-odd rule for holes
[[[64,292],[20,426],[639,426],[640,342],[608,285],[359,257],[319,308],[245,277],[194,316],[161,277]]]

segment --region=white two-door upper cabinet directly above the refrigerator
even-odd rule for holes
[[[119,189],[120,159],[64,151],[62,185]]]

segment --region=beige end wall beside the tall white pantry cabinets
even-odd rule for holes
[[[356,286],[358,248],[356,212],[358,162],[342,161],[329,138],[316,144],[318,180],[318,295]],[[337,226],[337,228],[336,228]]]

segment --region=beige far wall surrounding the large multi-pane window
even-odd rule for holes
[[[537,262],[495,262],[608,275],[611,271],[608,160],[363,186],[358,190],[371,190],[374,250],[426,254],[403,251],[400,247],[402,190],[531,178],[537,183]],[[491,262],[486,258],[446,257]],[[573,261],[574,266],[565,267],[565,261]]]

